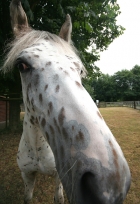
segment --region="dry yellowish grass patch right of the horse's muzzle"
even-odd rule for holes
[[[100,112],[130,166],[132,183],[124,203],[140,204],[140,111],[130,108],[101,108]]]

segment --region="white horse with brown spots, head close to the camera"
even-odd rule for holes
[[[20,71],[25,116],[17,163],[30,203],[36,173],[54,175],[54,203],[122,204],[131,174],[123,152],[82,85],[86,69],[71,43],[69,14],[59,35],[29,26],[10,4],[14,40],[3,71]]]

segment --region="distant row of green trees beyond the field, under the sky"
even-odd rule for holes
[[[92,81],[92,87],[100,101],[140,100],[140,66],[118,71],[113,76],[102,74]]]

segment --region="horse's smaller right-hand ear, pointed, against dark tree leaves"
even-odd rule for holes
[[[62,25],[59,37],[70,43],[71,41],[71,32],[72,32],[72,23],[71,17],[69,14],[66,15],[65,23]]]

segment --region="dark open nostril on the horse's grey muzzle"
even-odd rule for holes
[[[81,195],[84,201],[83,203],[102,204],[97,195],[98,190],[94,174],[86,172],[81,178]]]

